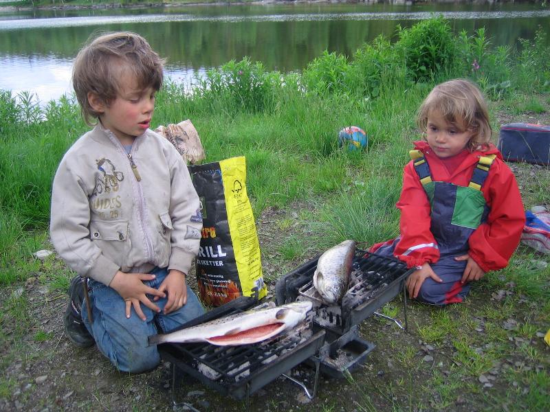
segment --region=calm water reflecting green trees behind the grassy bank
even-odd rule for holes
[[[270,70],[295,71],[323,50],[353,56],[397,25],[449,19],[458,33],[485,27],[494,45],[514,46],[549,32],[550,8],[525,3],[269,3],[99,10],[0,11],[0,89],[34,93],[41,102],[72,91],[78,49],[97,31],[142,34],[168,58],[166,74],[190,84],[207,69],[250,56]]]

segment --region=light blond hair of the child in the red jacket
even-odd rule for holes
[[[417,114],[417,124],[423,133],[426,133],[428,115],[432,111],[439,111],[445,121],[454,124],[459,130],[474,132],[467,144],[470,152],[489,148],[492,128],[487,103],[481,91],[469,80],[450,80],[430,91]]]

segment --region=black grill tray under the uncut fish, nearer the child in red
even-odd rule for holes
[[[312,282],[318,258],[306,262],[278,280],[275,286],[278,305],[295,301],[303,295],[301,290]],[[352,273],[357,281],[342,299],[340,306],[317,308],[314,322],[322,328],[344,334],[358,325],[384,304],[391,301],[403,289],[406,277],[412,273],[404,262],[385,258],[358,249],[353,259]],[[301,299],[301,297],[300,297]],[[320,314],[331,317],[331,325],[322,323]],[[332,318],[336,321],[332,321]]]

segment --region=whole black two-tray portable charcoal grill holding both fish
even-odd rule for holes
[[[342,299],[342,304],[326,306],[316,297],[316,290],[312,284],[317,260],[318,258],[299,266],[279,279],[276,284],[277,305],[297,299],[314,301],[314,309],[300,328],[252,345],[216,346],[210,343],[159,345],[160,356],[165,361],[169,361],[173,367],[173,400],[177,370],[237,400],[245,396],[248,399],[252,393],[279,376],[293,380],[305,389],[309,398],[313,398],[320,371],[341,378],[344,369],[351,370],[362,363],[366,354],[373,350],[374,345],[359,338],[358,325],[397,296],[401,289],[404,290],[405,279],[411,271],[397,260],[358,250],[353,260],[353,282]],[[406,310],[406,301],[404,305]],[[239,297],[186,323],[179,329],[243,312],[254,306],[259,306],[257,297]],[[344,357],[340,365],[335,364],[338,356]],[[315,367],[313,395],[309,394],[301,382],[285,375],[285,372],[300,363]],[[176,404],[175,400],[174,403]]]

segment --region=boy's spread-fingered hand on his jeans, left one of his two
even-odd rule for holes
[[[143,321],[146,320],[145,315],[143,314],[142,308],[140,307],[140,302],[147,306],[149,309],[154,310],[155,312],[160,312],[160,309],[157,305],[153,304],[151,300],[146,296],[155,295],[155,299],[158,297],[164,297],[164,292],[146,286],[143,283],[144,280],[155,279],[155,275],[149,273],[124,273],[118,271],[111,280],[109,286],[116,290],[118,294],[126,302],[126,317],[130,317],[130,312],[132,306],[140,319]]]

